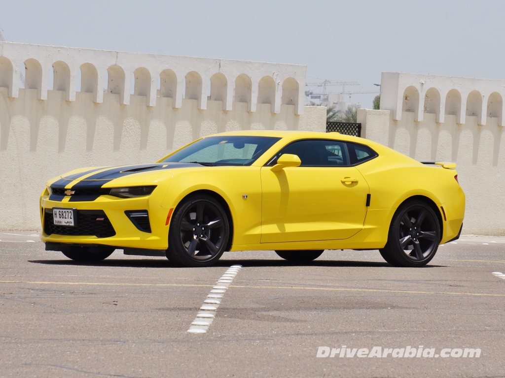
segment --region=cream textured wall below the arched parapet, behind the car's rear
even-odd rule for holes
[[[381,107],[382,100],[381,96]],[[418,161],[457,163],[458,179],[466,195],[463,234],[505,236],[503,127],[497,116],[484,120],[479,116],[467,115],[465,123],[460,123],[457,114],[445,114],[443,122],[437,122],[436,113],[425,112],[423,119],[416,121],[413,111],[403,111],[394,119],[390,110],[358,109],[363,138]]]

